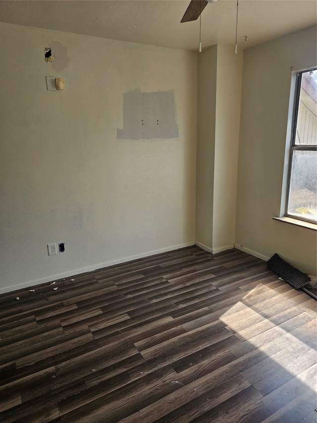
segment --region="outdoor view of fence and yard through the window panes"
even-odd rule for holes
[[[287,214],[317,222],[317,69],[299,80]]]

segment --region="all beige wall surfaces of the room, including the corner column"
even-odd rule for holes
[[[198,95],[196,53],[0,29],[0,292],[195,240],[214,252],[233,242],[264,259],[277,252],[316,274],[316,232],[272,220],[290,68],[316,65],[316,28],[245,51],[243,77],[242,52],[207,49]],[[61,55],[48,64],[51,45]],[[46,75],[64,78],[65,90],[47,91]],[[173,91],[178,138],[116,138],[132,90]],[[66,251],[48,256],[51,242]]]

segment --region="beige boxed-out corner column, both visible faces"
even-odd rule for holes
[[[243,51],[212,46],[198,56],[196,243],[233,248]]]

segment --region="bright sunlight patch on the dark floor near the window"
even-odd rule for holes
[[[226,310],[219,320],[243,341],[233,349],[237,357],[255,354],[256,351],[267,355],[266,359],[253,366],[253,371],[262,373],[265,367],[269,370],[273,361],[273,366],[278,364],[300,379],[307,366],[316,363],[316,339],[309,336],[312,331],[316,332],[316,319],[296,306],[292,298],[285,299],[288,307],[275,312],[278,299],[274,293],[276,301],[273,301],[273,297],[269,300],[269,291],[273,290],[267,286],[257,286],[242,301]],[[259,301],[263,294],[268,300]]]

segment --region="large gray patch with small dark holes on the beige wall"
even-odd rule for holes
[[[123,128],[117,129],[117,139],[153,138],[178,138],[174,91],[124,93]]]

